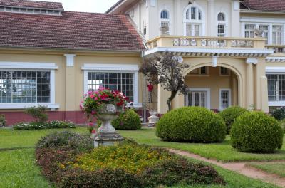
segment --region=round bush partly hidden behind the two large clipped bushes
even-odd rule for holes
[[[247,112],[248,110],[245,108],[239,106],[232,106],[225,110],[222,110],[222,112],[219,113],[219,115],[224,119],[224,122],[226,122],[227,134],[229,134],[234,120],[236,120],[239,115],[242,115]]]

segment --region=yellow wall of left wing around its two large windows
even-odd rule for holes
[[[0,61],[27,63],[56,63],[56,104],[60,111],[80,110],[79,104],[84,95],[84,71],[81,67],[88,64],[133,64],[140,67],[140,53],[83,53],[76,54],[73,67],[66,66],[65,51],[11,51],[1,50]],[[139,74],[139,103],[142,103],[142,75]],[[7,111],[7,110],[2,110]],[[11,110],[15,111],[15,110]]]

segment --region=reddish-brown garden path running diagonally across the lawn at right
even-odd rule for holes
[[[268,172],[261,171],[259,169],[255,169],[254,167],[249,167],[246,162],[218,162],[217,160],[209,160],[205,157],[201,157],[199,155],[192,154],[190,152],[184,152],[180,150],[170,149],[170,152],[174,152],[177,155],[182,155],[185,157],[191,157],[196,160],[202,160],[204,162],[209,162],[211,164],[215,164],[224,169],[229,169],[234,172],[238,172],[239,174],[243,174],[244,176],[251,177],[254,179],[259,179],[263,182],[275,184],[279,187],[285,187],[285,178],[279,177],[276,174],[271,174]]]

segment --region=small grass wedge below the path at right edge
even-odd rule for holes
[[[280,177],[285,177],[285,162],[268,162],[268,163],[259,163],[252,162],[248,164],[249,166],[255,167],[257,169],[264,170],[273,174],[277,174]]]

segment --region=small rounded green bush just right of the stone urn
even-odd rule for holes
[[[116,130],[140,130],[140,116],[134,110],[126,110],[125,113],[112,121],[113,127]]]

